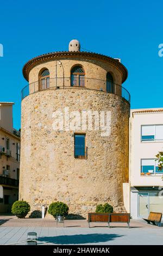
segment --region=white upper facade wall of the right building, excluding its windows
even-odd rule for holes
[[[141,176],[141,159],[155,159],[163,151],[163,141],[141,142],[141,125],[163,124],[163,112],[133,113],[138,110],[130,116],[130,186],[163,186],[162,174]]]

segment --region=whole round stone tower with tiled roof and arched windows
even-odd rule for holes
[[[23,75],[29,84],[22,90],[19,199],[31,211],[57,200],[82,216],[105,202],[125,211],[127,69],[117,59],[80,52],[72,40],[69,51],[29,60]]]

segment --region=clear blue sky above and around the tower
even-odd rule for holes
[[[0,101],[14,101],[20,128],[23,65],[43,53],[68,50],[71,39],[92,52],[121,58],[131,108],[162,106],[162,1],[1,1]]]

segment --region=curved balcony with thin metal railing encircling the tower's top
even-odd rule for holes
[[[97,90],[100,92],[105,92],[109,94],[115,94],[121,96],[124,100],[130,103],[130,94],[129,92],[119,84],[113,83],[108,80],[101,80],[96,78],[87,78],[82,77],[82,80],[73,80],[71,77],[58,77],[58,78],[49,78],[46,83],[36,81],[34,83],[28,84],[22,89],[22,100],[24,97],[29,94],[40,92],[46,89],[90,89]]]

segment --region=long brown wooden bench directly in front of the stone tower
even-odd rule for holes
[[[110,228],[111,222],[121,222],[128,223],[128,228],[130,227],[130,214],[106,214],[99,212],[89,212],[88,223],[90,228],[90,222],[108,222],[108,227]]]

